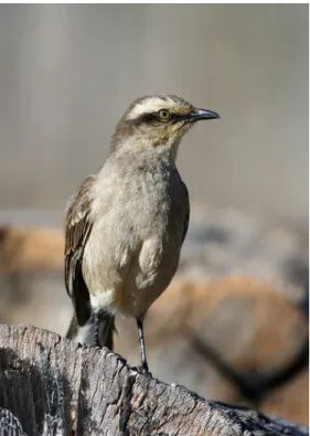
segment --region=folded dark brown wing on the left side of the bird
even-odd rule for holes
[[[65,221],[65,285],[79,326],[84,326],[90,317],[89,293],[84,281],[82,263],[93,225],[89,217],[89,189],[93,183],[92,176],[84,180],[78,193],[71,201]]]

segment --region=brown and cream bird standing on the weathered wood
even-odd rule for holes
[[[216,118],[175,95],[147,95],[125,111],[105,163],[66,210],[67,338],[113,350],[116,315],[133,318],[138,368],[149,373],[143,320],[177,272],[190,220],[179,145],[196,121]]]

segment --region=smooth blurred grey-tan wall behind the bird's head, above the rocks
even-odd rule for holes
[[[1,4],[0,206],[63,208],[137,96],[221,114],[185,139],[192,199],[308,216],[307,4]]]

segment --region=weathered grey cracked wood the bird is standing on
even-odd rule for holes
[[[309,434],[303,426],[145,376],[107,349],[1,325],[0,435],[71,435],[73,427],[87,436]]]

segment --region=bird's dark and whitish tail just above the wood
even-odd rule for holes
[[[109,350],[114,348],[115,317],[108,312],[100,312],[100,345],[107,347]],[[85,343],[86,345],[95,344],[95,319],[94,316],[84,326],[79,326],[74,315],[66,338],[73,341]]]

